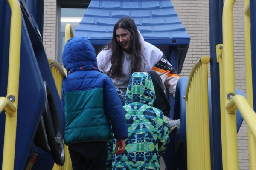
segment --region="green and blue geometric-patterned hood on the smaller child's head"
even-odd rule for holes
[[[140,102],[152,106],[154,100],[155,91],[151,76],[144,72],[133,73],[128,84],[125,105],[132,102]]]

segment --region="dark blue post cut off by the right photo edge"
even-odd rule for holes
[[[252,55],[252,77],[256,76],[256,2],[250,0],[250,33],[251,33],[251,55]],[[253,109],[256,111],[256,79],[253,78]]]

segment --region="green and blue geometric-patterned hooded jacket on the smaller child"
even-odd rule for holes
[[[150,75],[132,74],[126,95],[124,108],[129,136],[124,153],[113,154],[112,168],[160,170],[159,157],[169,143],[168,126],[163,113],[152,107],[155,94]]]

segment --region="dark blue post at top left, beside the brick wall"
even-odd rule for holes
[[[37,23],[41,37],[43,39],[44,32],[44,0],[26,0],[29,13],[32,14]]]

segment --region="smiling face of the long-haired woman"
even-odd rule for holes
[[[116,29],[116,40],[119,42],[124,51],[131,51],[131,33],[123,28]]]

